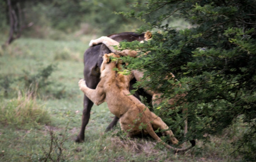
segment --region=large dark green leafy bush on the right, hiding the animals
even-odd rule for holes
[[[149,86],[167,99],[187,94],[185,100],[176,103],[187,102],[183,106],[188,108],[190,131],[183,140],[207,140],[205,134],[220,134],[242,117],[247,131],[235,144],[248,161],[256,160],[255,5],[256,1],[251,0],[150,0],[147,4],[135,5],[144,7],[142,12],[122,12],[145,21],[143,16],[151,12],[161,8],[166,11],[139,30],[158,29],[161,34],[154,33],[153,39],[144,44],[124,42],[122,48],[141,53],[150,51],[139,58],[125,60],[129,62],[129,69],[144,71],[144,79],[138,86]],[[174,13],[195,26],[176,30],[164,24]],[[182,115],[175,113],[178,110],[172,112],[171,106],[161,105],[158,114],[163,112],[167,120],[174,114],[180,121]]]

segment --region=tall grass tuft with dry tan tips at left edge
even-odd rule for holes
[[[0,123],[26,129],[49,124],[50,115],[43,106],[37,104],[32,93],[19,93],[18,98],[1,105]]]

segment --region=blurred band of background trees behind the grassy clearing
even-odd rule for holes
[[[142,1],[0,0],[0,32],[9,35],[9,44],[21,32],[28,37],[62,39],[61,34],[109,35],[135,31],[143,22],[113,12],[128,12],[131,4]]]

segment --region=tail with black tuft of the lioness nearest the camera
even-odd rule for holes
[[[185,152],[189,149],[191,149],[192,147],[194,147],[196,145],[196,141],[195,140],[191,140],[190,143],[191,143],[191,146],[187,147],[187,148],[184,148],[184,149],[177,149],[175,147],[172,147],[168,144],[166,144],[164,141],[161,140],[161,138],[158,137],[158,135],[154,132],[154,129],[152,127],[151,124],[149,124],[146,128],[146,131],[149,133],[149,135],[151,137],[153,137],[156,141],[162,143],[163,145],[165,145],[168,149],[170,150],[173,150],[174,153],[178,153],[178,152]]]

